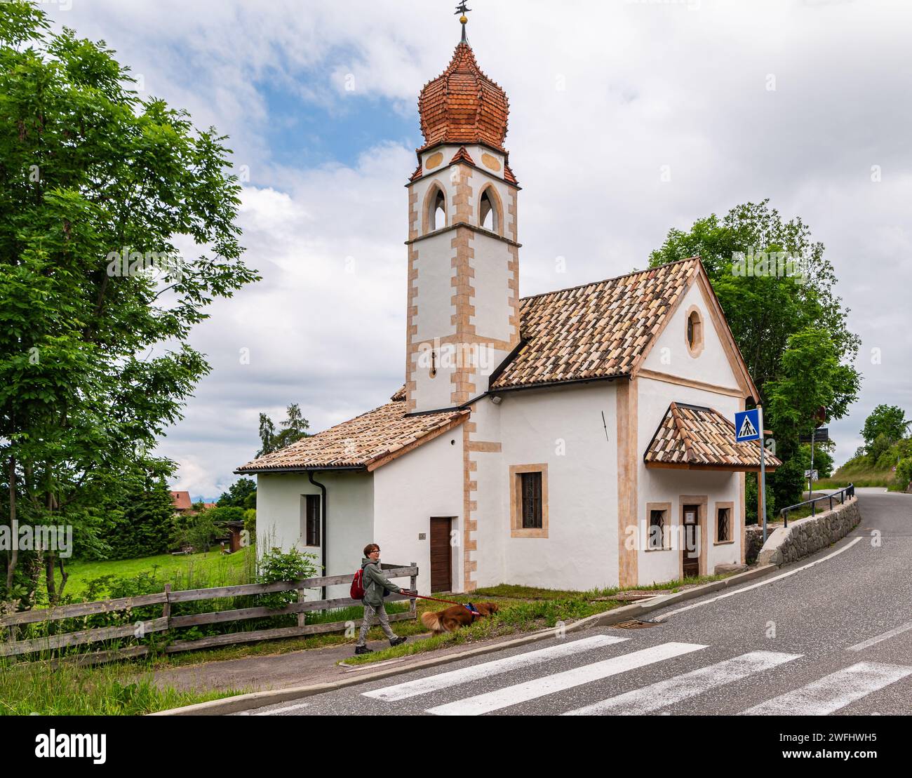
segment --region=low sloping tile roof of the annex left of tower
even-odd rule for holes
[[[236,472],[280,470],[374,470],[393,457],[460,424],[468,410],[441,410],[406,416],[406,403],[389,402],[303,438],[281,451],[247,462]]]

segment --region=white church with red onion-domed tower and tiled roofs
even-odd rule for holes
[[[238,468],[257,478],[258,533],[325,576],[376,542],[420,566],[421,594],[742,563],[760,448],[733,419],[759,396],[700,259],[520,297],[508,102],[464,36],[419,109],[405,385]]]

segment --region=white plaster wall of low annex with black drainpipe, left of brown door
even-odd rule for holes
[[[361,564],[361,552],[373,535],[373,476],[368,472],[315,472],[314,479],[326,486],[326,570],[317,576],[354,573]],[[260,473],[256,478],[256,532],[258,550],[272,536],[271,545],[284,550],[293,546],[322,558],[321,546],[304,545],[301,537],[301,496],[320,494],[306,473]],[[318,589],[308,592],[318,599]],[[348,596],[348,586],[329,586],[327,596]]]

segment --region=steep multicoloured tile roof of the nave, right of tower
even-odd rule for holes
[[[490,389],[629,375],[699,268],[694,257],[523,297],[521,346]]]

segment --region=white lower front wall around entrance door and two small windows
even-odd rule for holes
[[[714,377],[700,378],[715,382]],[[734,503],[731,545],[714,545],[714,535],[708,538],[706,572],[711,574],[715,565],[735,564],[741,561],[741,527],[744,524],[744,505],[741,503],[740,474],[737,472],[706,472],[648,468],[643,462],[643,452],[655,434],[659,423],[665,417],[672,402],[701,405],[718,410],[723,416],[734,420],[740,400],[728,395],[716,394],[705,389],[692,389],[669,384],[655,379],[637,379],[638,423],[637,423],[637,497],[640,540],[646,531],[646,503],[671,503],[673,526],[680,523],[681,494],[701,495],[709,498],[707,503],[707,524],[709,534],[715,530],[715,503]],[[677,532],[677,530],[675,531]],[[642,542],[637,554],[637,570],[640,584],[674,580],[679,576],[679,551],[645,551]]]

